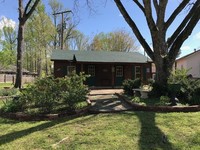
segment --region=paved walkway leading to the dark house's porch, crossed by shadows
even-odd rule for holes
[[[121,93],[121,89],[92,90],[89,99],[92,106],[91,113],[107,113],[131,110],[132,106],[120,99],[115,93]]]

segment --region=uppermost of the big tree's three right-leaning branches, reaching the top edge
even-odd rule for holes
[[[183,0],[182,3],[174,10],[172,15],[166,21],[165,28],[168,29],[178,14],[185,8],[185,6],[189,3],[190,0]]]

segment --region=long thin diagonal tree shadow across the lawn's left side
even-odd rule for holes
[[[84,118],[84,120],[81,119],[81,123],[94,118],[96,115],[94,114],[94,115],[89,115],[89,117],[87,117],[87,116],[88,116],[87,114],[82,115],[82,116],[78,116],[78,117],[86,117],[86,118]],[[18,138],[22,138],[22,137],[27,136],[31,133],[38,132],[38,131],[53,127],[53,126],[61,124],[61,123],[72,121],[74,119],[77,119],[78,117],[77,116],[69,116],[69,117],[65,117],[65,118],[63,117],[63,118],[59,118],[58,120],[48,121],[48,122],[45,122],[43,124],[31,127],[31,128],[27,128],[27,129],[24,129],[24,130],[21,130],[21,131],[15,131],[15,132],[12,132],[12,133],[2,135],[2,136],[0,136],[0,145],[12,142],[12,141],[14,141]],[[7,120],[8,119],[4,119],[4,121],[1,121],[0,123],[4,124],[4,122],[5,122],[5,124],[6,124],[8,122]],[[80,120],[77,120],[76,123],[78,123],[79,121]],[[20,121],[14,121],[14,122],[20,123]],[[72,123],[74,123],[74,122],[72,122]],[[66,124],[72,124],[72,123],[68,122]]]

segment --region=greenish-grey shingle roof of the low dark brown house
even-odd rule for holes
[[[74,60],[77,62],[146,63],[147,57],[138,52],[70,51],[53,50],[51,60]]]

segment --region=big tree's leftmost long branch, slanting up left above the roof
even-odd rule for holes
[[[135,22],[131,19],[131,17],[129,16],[128,12],[124,8],[124,6],[121,3],[121,1],[120,0],[114,0],[114,1],[116,3],[117,7],[119,8],[121,14],[124,16],[124,19],[129,24],[129,26],[131,27],[133,33],[135,34],[135,36],[139,40],[140,44],[143,46],[144,50],[147,52],[147,54],[149,55],[149,57],[152,60],[154,60],[153,51],[151,50],[150,46],[147,44],[147,42],[145,41],[145,39],[141,35],[141,33],[140,33],[139,29],[137,28]]]

